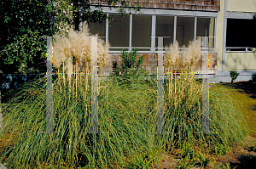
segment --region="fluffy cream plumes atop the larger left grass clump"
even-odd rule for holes
[[[90,34],[88,25],[84,21],[82,31],[70,30],[67,37],[61,36],[60,38],[55,38],[53,55],[54,67],[60,69],[61,65],[64,65],[65,72],[67,71],[67,59],[69,57],[74,57],[76,62],[80,63],[78,65],[79,70],[89,70],[88,67],[85,69],[85,66],[90,65],[91,36],[93,35]],[[108,42],[105,43],[102,39],[98,38],[98,45],[93,48],[97,48],[98,50],[98,66],[102,68],[105,65],[108,65],[108,60],[110,58],[110,55],[108,54]],[[81,64],[83,62],[86,64]]]

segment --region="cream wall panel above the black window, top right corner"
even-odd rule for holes
[[[221,0],[221,1],[224,1],[224,0]],[[255,0],[228,0],[228,11],[255,13],[256,1]]]

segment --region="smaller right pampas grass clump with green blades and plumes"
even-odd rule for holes
[[[167,150],[190,144],[201,145],[208,151],[241,143],[247,131],[244,117],[224,91],[214,88],[210,88],[209,93],[209,128],[213,133],[201,133],[202,83],[195,79],[201,40],[189,42],[189,47],[182,52],[179,53],[176,42],[165,55],[165,67],[171,70],[165,80],[165,132],[169,134],[164,134],[160,143]]]

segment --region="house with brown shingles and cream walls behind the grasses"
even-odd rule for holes
[[[94,1],[95,2],[95,1]],[[164,47],[179,42],[188,45],[196,37],[208,37],[208,46],[216,56],[210,67],[212,82],[230,82],[230,70],[240,72],[236,81],[256,78],[256,2],[254,0],[128,0],[141,4],[139,12],[126,9],[119,17],[117,9],[102,3],[112,20],[102,25],[90,23],[90,32],[110,42],[112,61],[120,61],[120,50],[138,48],[144,55],[143,67],[156,65],[157,39],[164,36]],[[91,9],[95,9],[92,5]],[[105,75],[111,71],[104,69]]]

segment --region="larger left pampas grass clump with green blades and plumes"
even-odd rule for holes
[[[90,35],[85,28],[84,34]],[[55,40],[53,63],[59,68],[58,72],[66,72],[68,68],[90,70],[90,42],[81,37],[84,34],[70,31],[70,37]],[[98,64],[104,66],[108,62],[108,44],[101,46],[101,43],[99,40]],[[70,68],[72,57],[75,64]],[[85,63],[81,64],[79,60]],[[1,162],[7,163],[8,168],[113,168],[130,166],[130,159],[139,152],[148,155],[148,161],[153,165],[155,152],[160,149],[160,145],[154,144],[154,135],[149,134],[151,121],[156,116],[154,89],[146,82],[130,82],[127,87],[125,82],[99,80],[100,133],[90,133],[90,75],[65,79],[64,74],[53,76],[55,133],[45,133],[45,76],[40,81],[27,82],[3,107]]]

